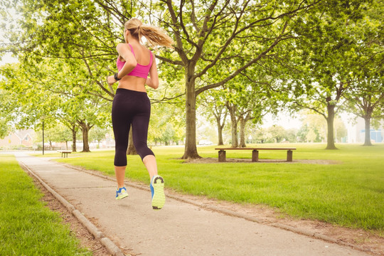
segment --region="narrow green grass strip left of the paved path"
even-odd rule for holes
[[[0,255],[92,255],[42,196],[14,156],[0,154]]]

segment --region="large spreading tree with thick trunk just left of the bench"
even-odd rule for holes
[[[160,1],[160,24],[174,34],[177,58],[160,60],[185,70],[186,147],[183,159],[198,158],[196,97],[225,85],[276,46],[290,38],[297,16],[318,4],[294,1],[289,6],[262,1]]]

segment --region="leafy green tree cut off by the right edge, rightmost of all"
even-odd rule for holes
[[[384,117],[384,47],[383,16],[384,7],[380,1],[364,12],[365,16],[358,23],[361,42],[356,48],[358,54],[358,80],[351,92],[344,95],[347,100],[346,110],[362,117],[365,122],[364,146],[370,142],[370,120]]]

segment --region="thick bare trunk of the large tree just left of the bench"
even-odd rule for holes
[[[191,80],[193,70],[186,74],[186,146],[181,159],[201,158],[196,147],[196,92],[195,82]]]

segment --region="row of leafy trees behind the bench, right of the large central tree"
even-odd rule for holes
[[[348,4],[353,5],[342,3]],[[378,15],[383,14],[383,4],[367,5],[353,15],[344,8],[341,14],[335,10],[323,9],[317,16],[303,18],[305,25],[295,28],[296,37],[274,48],[279,49],[277,60],[268,62],[267,58],[261,68],[242,73],[222,91],[210,91],[204,100],[218,123],[219,138],[223,117],[230,114],[233,146],[245,146],[245,122],[258,123],[282,105],[292,112],[307,109],[321,114],[327,123],[327,149],[336,148],[334,118],[338,112],[363,117],[366,131],[372,118],[383,118],[383,16]],[[245,78],[255,86],[243,86]],[[366,145],[370,145],[369,136],[366,132]]]

